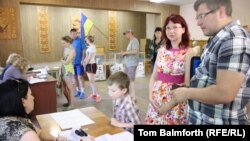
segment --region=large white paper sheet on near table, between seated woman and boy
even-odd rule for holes
[[[95,123],[79,109],[50,114],[62,130]]]

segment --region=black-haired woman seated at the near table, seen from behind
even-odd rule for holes
[[[34,97],[26,80],[9,79],[0,84],[0,140],[40,141],[38,134],[41,132],[28,118],[33,109]],[[58,139],[64,140],[62,137]],[[54,138],[46,136],[46,140]]]

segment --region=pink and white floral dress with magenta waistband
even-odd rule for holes
[[[169,94],[172,85],[184,83],[185,72],[185,49],[166,49],[162,47],[158,51],[157,65],[157,81],[155,81],[152,94],[153,100],[161,105],[163,102],[168,102],[171,98]],[[178,104],[166,114],[158,113],[151,104],[149,104],[146,114],[146,124],[166,124],[178,125],[186,124],[184,115],[185,103]]]

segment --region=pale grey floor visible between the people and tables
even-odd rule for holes
[[[148,85],[149,85],[149,78],[150,76],[136,78],[136,98],[137,98],[137,106],[140,110],[140,117],[142,122],[145,118],[145,113],[148,107]],[[84,108],[88,106],[95,106],[97,109],[105,113],[107,116],[111,117],[112,115],[112,101],[111,98],[108,96],[108,88],[106,81],[97,81],[97,88],[102,96],[102,101],[97,103],[92,100],[88,99],[75,99],[76,104],[74,105],[75,108]],[[87,96],[91,93],[91,88],[89,86],[88,81],[85,81],[85,91]],[[62,104],[66,102],[66,99],[63,95],[57,96],[57,111],[65,110],[62,107]]]

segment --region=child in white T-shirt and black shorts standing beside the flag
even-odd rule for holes
[[[86,64],[86,72],[92,89],[92,94],[90,94],[89,98],[94,99],[96,102],[100,102],[101,96],[99,95],[95,84],[95,74],[97,70],[97,65],[95,62],[96,46],[93,44],[94,36],[87,36],[85,38],[85,41],[87,43],[88,48],[86,50],[84,64]]]

